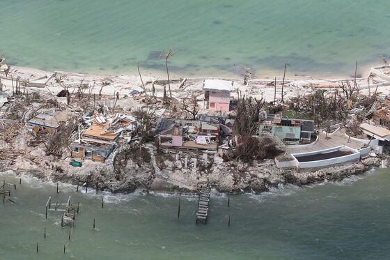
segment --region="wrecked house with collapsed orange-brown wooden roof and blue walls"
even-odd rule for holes
[[[93,124],[70,145],[72,158],[104,162],[116,148],[119,133],[108,130],[109,124]]]

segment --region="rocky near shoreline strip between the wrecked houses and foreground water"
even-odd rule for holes
[[[389,159],[387,159],[389,160]],[[302,187],[313,184],[327,183],[329,181],[343,181],[350,176],[359,176],[365,174],[367,171],[373,169],[380,169],[381,158],[366,158],[360,162],[352,165],[339,165],[336,167],[327,167],[317,169],[315,171],[299,171],[299,169],[277,169],[274,165],[267,165],[267,167],[258,167],[239,164],[237,167],[231,165],[218,165],[214,169],[211,169],[208,178],[218,180],[220,183],[214,183],[211,186],[212,190],[216,190],[221,194],[262,194],[269,192],[272,189],[278,189],[280,185],[294,185],[295,187]],[[222,167],[222,168],[221,168]],[[247,168],[240,168],[247,167]],[[226,179],[234,178],[233,171],[245,171],[245,176],[240,178],[240,181],[234,185],[227,185]],[[6,173],[11,171],[18,176],[28,176],[37,178],[42,183],[63,183],[66,185],[77,186],[77,183],[82,183],[86,178],[89,180],[88,188],[95,190],[95,183],[98,183],[98,190],[104,192],[111,192],[112,194],[132,194],[134,192],[148,194],[150,192],[162,193],[162,194],[185,194],[188,196],[195,196],[198,194],[196,183],[192,183],[189,178],[187,185],[192,185],[192,189],[187,187],[180,187],[176,181],[163,180],[154,176],[153,181],[149,187],[146,187],[137,177],[124,179],[122,181],[102,181],[104,176],[100,171],[88,171],[87,173],[79,174],[63,174],[50,169],[15,169],[14,167],[4,167],[1,172]],[[214,172],[215,171],[215,172]],[[221,171],[224,171],[221,176]],[[267,171],[268,174],[258,175],[259,171]],[[257,172],[257,174],[256,174]],[[165,174],[169,176],[178,175],[178,171],[165,171]],[[186,176],[188,172],[182,174]],[[153,172],[150,172],[150,176],[153,176]],[[83,180],[83,181],[81,181]],[[91,185],[92,183],[92,185]],[[137,185],[137,184],[138,185]],[[85,183],[84,183],[85,185]],[[83,187],[83,186],[81,186]]]

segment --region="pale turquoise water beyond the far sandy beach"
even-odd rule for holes
[[[390,1],[0,0],[0,52],[46,70],[352,75],[390,54]]]

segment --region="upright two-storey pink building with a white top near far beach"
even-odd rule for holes
[[[205,79],[203,81],[205,91],[205,109],[214,111],[229,111],[233,81],[222,79]]]

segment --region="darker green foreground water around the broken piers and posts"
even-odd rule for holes
[[[388,259],[389,185],[389,169],[378,169],[338,183],[233,196],[229,208],[227,197],[214,194],[205,226],[195,224],[193,197],[181,198],[178,219],[176,196],[96,196],[69,185],[56,194],[53,184],[23,179],[12,191],[17,204],[0,204],[0,259]],[[45,220],[49,195],[54,203],[68,196],[81,202],[71,240],[60,213]]]

